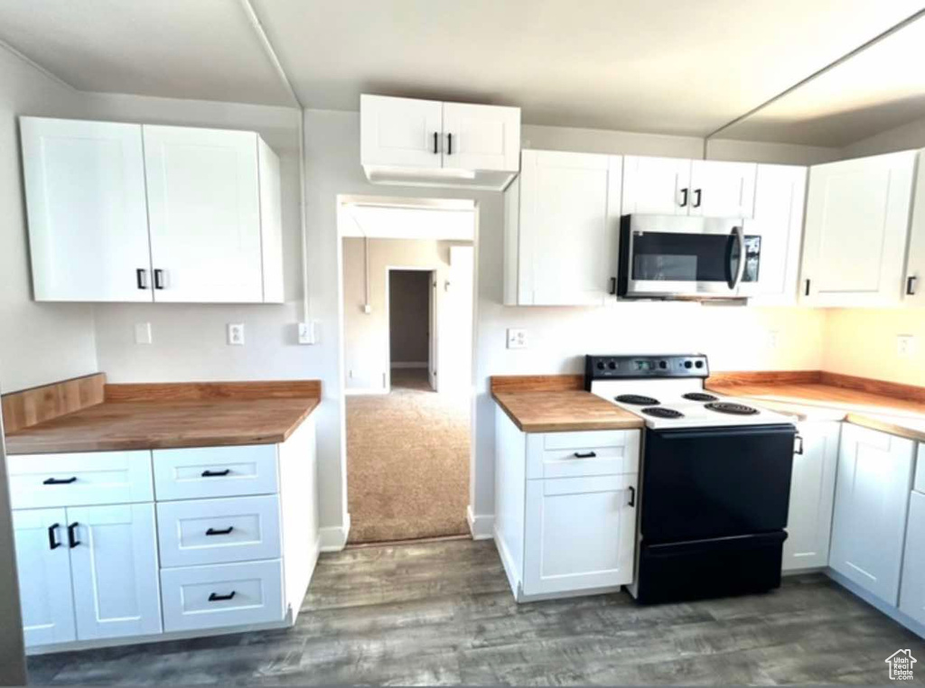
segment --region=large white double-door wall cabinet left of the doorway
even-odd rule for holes
[[[257,133],[19,122],[36,301],[283,300],[279,159]]]

